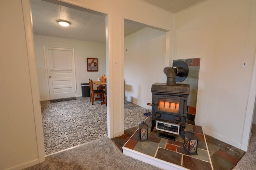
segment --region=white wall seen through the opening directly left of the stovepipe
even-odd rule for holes
[[[166,82],[166,33],[144,28],[124,38],[124,79],[126,100],[152,109],[151,86]]]

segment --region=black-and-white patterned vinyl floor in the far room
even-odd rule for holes
[[[107,107],[90,97],[50,103],[41,102],[45,154],[107,136]],[[138,126],[146,109],[124,101],[124,130]]]

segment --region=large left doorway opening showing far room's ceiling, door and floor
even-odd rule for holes
[[[31,0],[30,5],[45,154],[106,136],[106,106],[91,106],[89,98],[82,98],[80,84],[98,78],[98,72],[86,71],[87,57],[96,55],[106,74],[107,15],[57,0]],[[58,20],[71,25],[62,27]],[[77,100],[50,103],[70,97]]]

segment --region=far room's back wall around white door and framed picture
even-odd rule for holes
[[[74,48],[74,58],[76,66],[76,89],[77,96],[82,96],[81,83],[88,83],[88,79],[97,80],[102,74],[106,74],[106,44],[90,41],[81,41],[74,39],[49,37],[44,35],[34,35],[34,46],[36,65],[43,65],[44,68],[38,68],[38,82],[40,89],[40,100],[50,100],[47,90],[46,67],[44,60],[44,45],[56,47],[71,47]],[[98,59],[98,71],[87,71],[86,58]],[[84,77],[84,74],[86,77]]]

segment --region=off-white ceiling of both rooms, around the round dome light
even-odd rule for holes
[[[176,13],[205,0],[140,0]],[[30,0],[34,34],[105,42],[105,16],[99,12],[66,4],[57,0]],[[57,20],[70,21],[71,25],[62,27]],[[129,35],[146,25],[125,20],[124,35]]]

